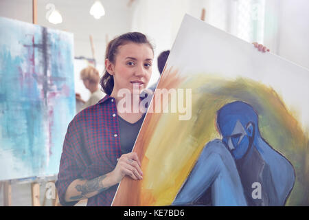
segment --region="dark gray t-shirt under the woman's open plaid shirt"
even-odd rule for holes
[[[141,119],[139,119],[133,124],[127,122],[118,115],[120,146],[122,149],[122,154],[130,153],[132,151],[137,135],[139,134],[139,129],[141,129],[141,124],[144,121],[145,115],[146,113],[141,116]]]

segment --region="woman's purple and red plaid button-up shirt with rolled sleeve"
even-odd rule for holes
[[[65,201],[69,184],[75,179],[93,179],[111,172],[120,156],[116,103],[106,95],[98,104],[80,111],[68,126],[56,181],[60,203],[76,204],[77,201]],[[117,186],[89,198],[87,206],[110,206]]]

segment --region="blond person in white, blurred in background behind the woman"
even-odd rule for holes
[[[88,66],[80,72],[80,78],[84,83],[84,86],[91,92],[91,96],[87,102],[84,102],[82,109],[86,109],[87,107],[97,104],[102,98],[104,98],[105,94],[101,91],[99,87],[100,83],[100,75],[95,67]],[[80,96],[76,94],[76,99],[81,100]],[[82,100],[81,100],[82,101]]]

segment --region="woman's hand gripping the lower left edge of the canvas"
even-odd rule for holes
[[[128,175],[135,180],[143,179],[143,172],[141,172],[141,162],[139,162],[137,153],[132,152],[123,154],[118,159],[117,165],[111,174],[113,175],[116,184],[118,184],[125,175]]]

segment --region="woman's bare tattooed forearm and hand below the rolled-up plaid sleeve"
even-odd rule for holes
[[[142,179],[141,163],[136,153],[122,155],[111,173],[95,177],[94,179],[75,179],[65,192],[65,201],[87,199],[98,195],[111,186],[118,184],[125,175],[137,180]]]

